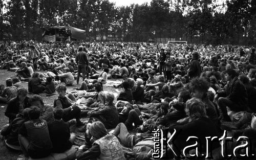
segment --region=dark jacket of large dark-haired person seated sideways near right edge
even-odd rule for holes
[[[247,108],[247,92],[244,84],[238,77],[234,77],[227,84],[226,90],[219,92],[218,95],[219,97],[226,97],[237,105],[244,107],[244,110]]]

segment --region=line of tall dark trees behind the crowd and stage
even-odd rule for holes
[[[0,40],[40,40],[43,26],[72,26],[85,30],[89,40],[255,43],[256,0],[218,2],[152,0],[117,7],[108,0],[0,0]]]

